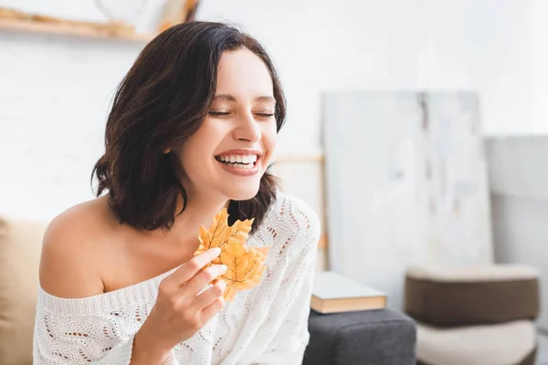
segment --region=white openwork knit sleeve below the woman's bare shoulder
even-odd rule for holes
[[[39,288],[33,364],[129,365],[133,339],[148,310],[129,295],[65,299]],[[180,365],[173,350],[168,363]]]

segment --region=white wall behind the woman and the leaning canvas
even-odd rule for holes
[[[321,151],[326,90],[477,89],[485,133],[547,132],[533,108],[548,78],[533,37],[543,30],[532,26],[537,1],[203,0],[198,18],[242,24],[266,45],[289,99],[279,153],[307,154]],[[101,18],[91,0],[0,5]],[[49,218],[92,196],[111,92],[141,47],[0,32],[0,213]],[[315,179],[299,183],[318,195]]]

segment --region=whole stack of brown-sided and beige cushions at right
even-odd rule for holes
[[[531,266],[413,266],[406,275],[420,364],[534,364],[539,302]]]

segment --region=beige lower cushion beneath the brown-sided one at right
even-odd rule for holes
[[[534,323],[433,328],[416,323],[416,359],[427,365],[533,365]]]

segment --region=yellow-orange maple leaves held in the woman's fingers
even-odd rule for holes
[[[234,224],[228,225],[227,208],[223,208],[213,218],[209,230],[203,225],[200,226],[200,245],[195,255],[200,255],[210,248],[221,248],[221,255],[204,268],[212,264],[227,266],[227,272],[221,278],[227,284],[224,297],[228,301],[233,300],[238,291],[255,287],[265,269],[269,247],[246,247],[253,221],[254,218],[237,220]]]

